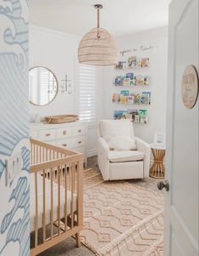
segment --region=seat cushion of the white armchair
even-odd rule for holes
[[[141,151],[109,151],[108,153],[110,162],[141,161],[144,157],[145,154]]]

